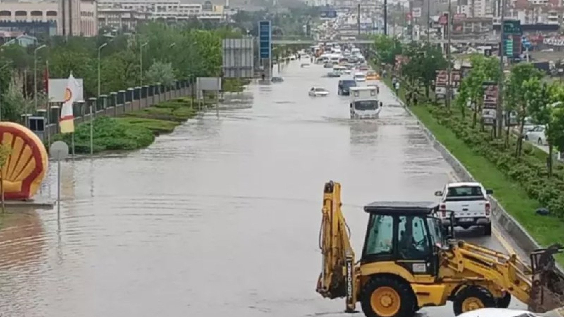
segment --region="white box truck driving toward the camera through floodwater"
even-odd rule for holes
[[[378,86],[350,87],[351,119],[377,119],[382,109],[378,102]]]

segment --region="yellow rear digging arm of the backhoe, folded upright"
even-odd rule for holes
[[[356,306],[354,250],[341,206],[341,184],[325,183],[319,232],[323,260],[316,292],[331,299],[346,297],[346,311],[352,312]]]

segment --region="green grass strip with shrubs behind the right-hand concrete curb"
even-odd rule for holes
[[[391,81],[387,78],[385,83],[391,86]],[[404,89],[401,89],[400,96],[404,100]],[[557,185],[554,183],[547,184],[544,179],[544,170],[546,169],[543,170],[543,164],[547,158],[547,153],[525,143],[523,144],[521,160],[515,161],[515,158],[510,157],[516,141],[513,136],[510,138],[509,148],[504,150],[503,144],[496,144],[495,140],[488,140],[488,132],[473,132],[468,126],[465,126],[463,122],[464,120],[468,121],[469,117],[462,118],[459,112],[453,111],[450,117],[456,116],[458,119],[448,121],[451,118],[442,117],[446,115],[436,110],[437,108],[442,107],[429,104],[410,107],[422,124],[468,169],[474,178],[493,190],[494,196],[504,209],[539,244],[548,246],[552,243],[562,243],[564,241],[564,221],[562,217],[555,215],[541,216],[535,213],[537,208],[553,204],[553,199],[557,199],[557,197],[550,197],[552,191],[547,188]],[[452,129],[452,126],[456,127],[457,133]],[[472,133],[478,133],[478,135],[472,138],[469,135]],[[466,137],[462,138],[461,135]],[[496,146],[499,151],[492,151]],[[487,155],[484,155],[486,153]],[[530,169],[533,165],[537,169],[535,173],[530,171],[520,173],[520,169]],[[562,166],[555,166],[555,174],[558,175],[561,172]],[[557,176],[553,178],[557,178]],[[531,196],[541,197],[545,203],[541,204],[539,199],[533,199]],[[559,263],[564,264],[562,254],[559,254],[557,259]]]

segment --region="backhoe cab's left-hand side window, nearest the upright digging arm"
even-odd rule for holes
[[[377,215],[372,219],[365,254],[371,256],[393,254],[394,218],[389,215]]]

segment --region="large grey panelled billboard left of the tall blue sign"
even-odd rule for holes
[[[252,37],[226,38],[223,47],[223,77],[253,78],[254,40]]]

